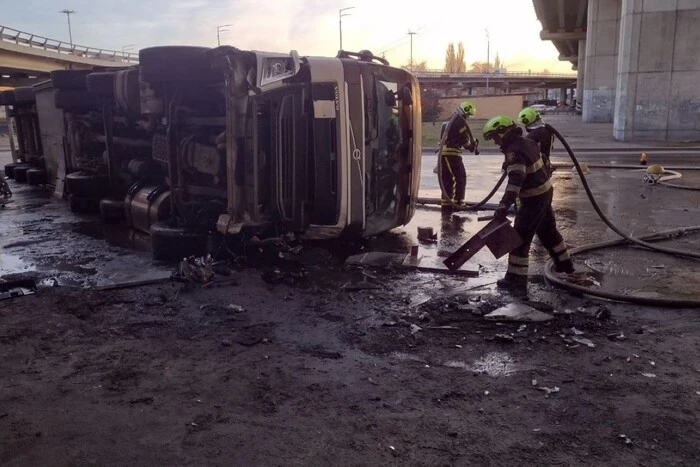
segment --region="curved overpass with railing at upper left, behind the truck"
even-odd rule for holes
[[[48,39],[0,26],[0,86],[31,86],[60,69],[100,69],[138,63],[138,54]]]

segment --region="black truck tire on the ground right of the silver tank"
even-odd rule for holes
[[[171,221],[151,225],[153,259],[180,261],[188,256],[207,253],[208,234],[194,229],[176,227]]]

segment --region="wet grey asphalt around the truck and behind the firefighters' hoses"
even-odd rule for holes
[[[697,165],[700,159],[692,153],[669,154],[651,162],[666,165]],[[635,153],[610,156],[582,152],[586,163],[604,162],[635,164]],[[486,154],[465,156],[467,199],[481,200],[500,177],[501,156]],[[554,162],[565,162],[555,156]],[[9,162],[9,154],[0,151],[0,162]],[[439,197],[437,177],[433,173],[434,154],[423,157],[421,169],[422,197]],[[700,191],[687,191],[649,186],[642,182],[643,170],[592,169],[587,180],[606,214],[623,230],[643,235],[674,227],[700,224]],[[558,169],[554,176],[554,207],[562,235],[570,246],[581,246],[614,239],[593,211],[578,176],[571,170]],[[148,238],[124,230],[105,229],[94,216],[75,215],[67,203],[51,197],[40,188],[9,181],[14,192],[12,203],[0,211],[0,277],[33,273],[47,285],[93,287],[108,285],[129,278],[162,277],[173,270],[172,264],[153,262],[148,252]],[[700,185],[700,171],[686,171],[684,183]],[[495,202],[502,192],[495,195]],[[431,226],[438,234],[434,243],[420,245],[426,261],[439,263],[444,252],[457,249],[481,229],[485,222],[478,216],[489,211],[442,213],[437,206],[424,206],[416,211],[405,227],[370,240],[366,248],[379,251],[407,251],[417,243],[419,226]],[[669,242],[676,247],[700,251],[700,235]],[[535,243],[531,275],[535,286],[544,288],[540,273],[546,253]],[[698,262],[673,258],[635,248],[615,248],[577,257],[579,271],[594,278],[595,287],[605,290],[646,296],[700,296]],[[479,270],[478,278],[455,277],[441,273],[424,274],[425,283],[434,280],[454,287],[493,284],[505,271],[506,259],[496,260],[488,250],[477,253],[468,263]],[[417,293],[419,291],[416,291]],[[550,295],[556,292],[548,291]]]

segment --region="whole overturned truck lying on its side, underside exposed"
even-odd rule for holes
[[[226,236],[360,238],[410,221],[421,115],[406,70],[368,51],[139,55],[35,86],[42,154],[10,171],[41,170],[74,212],[149,233],[156,259]]]

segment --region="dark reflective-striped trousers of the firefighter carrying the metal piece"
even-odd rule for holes
[[[557,230],[557,223],[552,211],[552,195],[550,190],[542,195],[531,198],[521,198],[520,208],[515,216],[514,228],[523,239],[523,244],[508,255],[507,279],[527,279],[530,246],[535,235],[552,257],[558,272],[572,272],[573,263],[566,249],[566,244]]]

